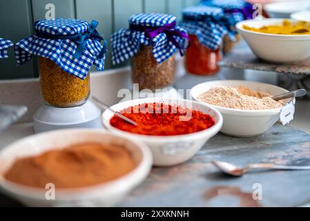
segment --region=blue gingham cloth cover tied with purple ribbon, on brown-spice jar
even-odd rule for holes
[[[177,18],[173,15],[159,14],[159,13],[140,13],[129,18],[129,24],[139,26],[164,26],[168,23],[176,22]],[[186,30],[175,26],[174,30],[179,30],[187,34]],[[187,41],[181,37],[175,37],[176,41],[185,48]],[[160,33],[153,39],[149,39],[144,35],[144,32],[130,30],[130,28],[122,28],[115,32],[110,40],[112,44],[112,61],[113,64],[130,59],[137,55],[141,45],[153,46],[153,55],[158,64],[166,61],[173,56],[177,50],[171,41],[168,41],[165,33]]]

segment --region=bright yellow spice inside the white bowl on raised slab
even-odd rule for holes
[[[282,25],[262,26],[261,28],[253,28],[244,25],[243,28],[253,32],[275,35],[310,35],[310,23],[304,21],[292,23],[291,21],[284,20]]]

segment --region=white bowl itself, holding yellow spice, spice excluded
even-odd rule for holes
[[[243,28],[244,25],[253,28],[280,25],[283,20],[245,20],[237,23],[236,27],[253,53],[261,59],[271,62],[291,63],[309,58],[310,35],[273,35],[253,32]]]

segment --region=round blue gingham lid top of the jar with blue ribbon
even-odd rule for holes
[[[86,32],[87,21],[78,19],[50,19],[35,22],[35,31],[51,35],[76,35]]]

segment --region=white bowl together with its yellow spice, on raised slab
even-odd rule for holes
[[[293,19],[252,19],[237,23],[236,28],[260,59],[292,63],[310,57],[310,23]]]

